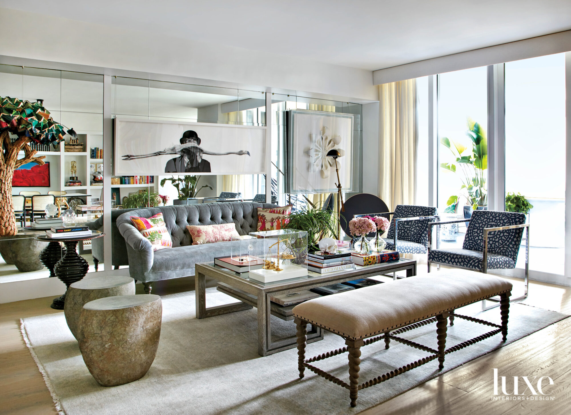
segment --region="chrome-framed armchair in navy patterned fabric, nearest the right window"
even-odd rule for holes
[[[468,222],[462,248],[432,249],[428,247],[428,272],[431,264],[471,269],[487,273],[488,269],[516,268],[521,239],[526,228],[524,295],[510,301],[525,299],[528,296],[529,277],[529,223],[525,223],[524,213],[480,211],[472,212],[470,219],[459,219],[428,224],[428,237],[432,240],[432,227],[451,223]],[[438,244],[438,243],[437,243]],[[482,301],[482,310],[486,308]],[[488,299],[498,303],[498,299]],[[493,307],[497,307],[499,303]],[[489,307],[489,308],[493,308]]]

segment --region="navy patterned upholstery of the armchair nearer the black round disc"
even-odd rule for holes
[[[415,218],[414,220],[403,220]],[[419,218],[419,219],[417,219]],[[427,253],[428,223],[437,220],[436,208],[399,204],[393,213],[387,237],[386,249],[395,249],[395,227],[397,228],[396,251],[400,253]]]

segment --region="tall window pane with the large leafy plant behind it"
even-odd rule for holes
[[[488,87],[486,67],[438,75],[441,215],[463,215],[464,206],[486,206]],[[461,245],[465,227],[443,227],[445,246]]]

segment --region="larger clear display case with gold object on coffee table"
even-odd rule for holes
[[[296,229],[250,232],[254,256],[262,267],[250,267],[250,278],[263,283],[307,276],[307,232]]]

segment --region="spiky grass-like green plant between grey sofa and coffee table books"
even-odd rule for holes
[[[307,244],[310,250],[316,250],[317,243],[327,235],[337,237],[337,219],[331,210],[321,210],[319,206],[307,204],[303,209],[289,214],[286,229],[297,229],[307,232]]]

